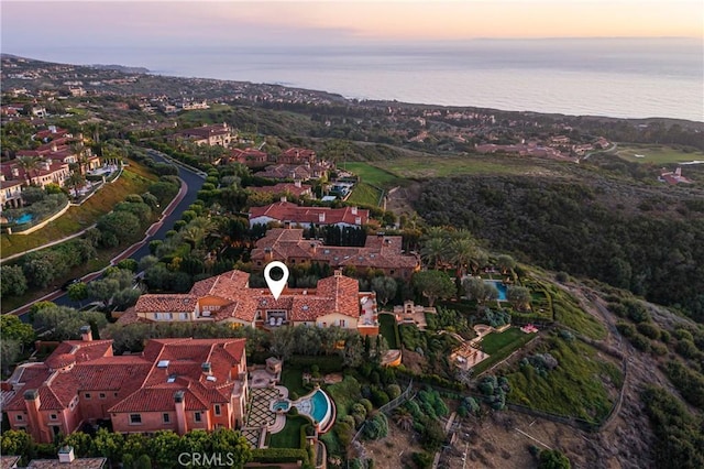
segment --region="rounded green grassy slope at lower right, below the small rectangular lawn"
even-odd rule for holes
[[[538,373],[534,367],[516,367],[507,374],[508,401],[588,422],[604,419],[623,385],[619,368],[579,340],[551,338],[536,349],[550,353],[558,367]]]

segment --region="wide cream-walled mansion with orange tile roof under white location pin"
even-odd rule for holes
[[[376,294],[360,292],[358,281],[340,271],[319,280],[316,288],[285,288],[278,299],[266,287],[250,287],[249,276],[233,270],[196,282],[187,294],[142,295],[119,323],[217,321],[270,330],[339,326],[378,334]]]

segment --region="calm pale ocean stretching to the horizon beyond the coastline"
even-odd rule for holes
[[[135,51],[86,46],[63,54],[68,52],[82,59],[64,56],[63,62],[121,63],[162,75],[279,84],[348,98],[704,121],[704,45],[690,39],[276,48],[217,44]],[[47,53],[59,61],[61,51],[50,46],[43,51]]]

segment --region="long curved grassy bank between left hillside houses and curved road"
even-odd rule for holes
[[[2,252],[2,257],[9,257],[78,232],[95,223],[100,216],[112,210],[112,207],[124,200],[128,194],[146,192],[146,188],[154,181],[156,181],[156,176],[146,173],[143,167],[131,162],[117,182],[105,184],[81,206],[70,207],[66,214],[41,230],[31,234],[2,234],[0,252]]]

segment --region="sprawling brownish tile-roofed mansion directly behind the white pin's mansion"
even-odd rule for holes
[[[304,239],[300,228],[273,228],[256,241],[252,251],[254,269],[261,270],[271,261],[286,264],[317,262],[333,269],[354,268],[358,272],[378,269],[385,275],[410,280],[420,268],[417,255],[405,254],[399,236],[369,236],[364,247],[324,246],[318,240]]]

